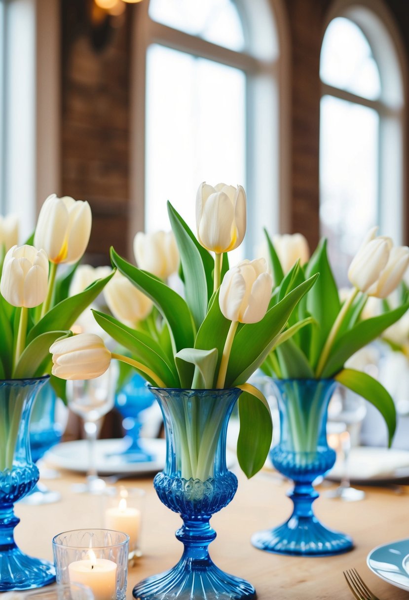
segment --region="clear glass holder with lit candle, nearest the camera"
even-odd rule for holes
[[[125,600],[128,572],[127,533],[76,529],[53,538],[57,583],[80,583],[95,600]]]

